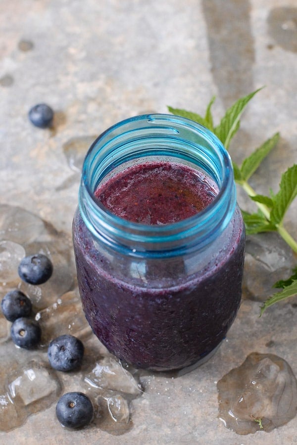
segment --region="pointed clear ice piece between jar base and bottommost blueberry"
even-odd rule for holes
[[[91,372],[85,375],[85,382],[93,388],[119,391],[139,395],[141,388],[133,375],[112,357],[102,357]]]

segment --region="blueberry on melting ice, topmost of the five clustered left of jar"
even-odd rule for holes
[[[26,283],[42,284],[50,278],[52,264],[46,255],[31,255],[22,259],[18,267],[18,273]]]

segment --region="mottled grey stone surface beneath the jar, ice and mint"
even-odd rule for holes
[[[263,193],[276,191],[281,173],[296,162],[296,0],[0,0],[0,32],[0,202],[59,230],[70,233],[78,191],[65,144],[133,115],[166,112],[167,105],[203,114],[215,94],[218,122],[236,99],[265,85],[248,105],[230,154],[241,163],[281,133],[251,180]],[[28,110],[39,102],[55,110],[53,130],[29,123]],[[240,191],[239,202],[252,208]],[[286,221],[295,236],[296,216],[295,205]],[[205,365],[169,383],[151,376],[125,435],[65,431],[51,406],[0,433],[0,443],[294,444],[297,418],[249,436],[217,419],[216,382],[249,353],[277,354],[297,375],[292,301],[258,314],[259,303],[244,299],[228,341]]]

